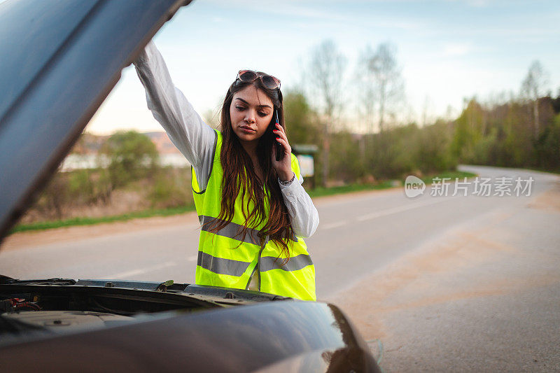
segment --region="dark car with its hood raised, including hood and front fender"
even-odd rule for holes
[[[54,174],[176,0],[0,3],[0,237]],[[10,371],[378,372],[342,311],[167,281],[0,276]]]

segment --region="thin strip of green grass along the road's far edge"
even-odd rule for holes
[[[464,178],[464,177],[470,178],[473,176],[476,176],[476,174],[471,174],[470,172],[462,172],[462,171],[447,171],[441,174],[423,177],[422,180],[424,181],[424,183],[429,184],[431,183],[432,179],[435,177],[451,178],[451,181],[454,181],[455,178]],[[332,187],[332,188],[316,188],[315,190],[309,190],[309,195],[311,197],[323,197],[328,195],[339,195],[344,193],[360,192],[362,190],[388,189],[400,185],[402,185],[402,181],[391,181],[391,180],[383,181],[378,184],[350,184],[350,185],[343,185],[343,186]],[[54,228],[71,227],[76,225],[113,223],[117,221],[126,221],[126,220],[137,219],[137,218],[151,218],[153,216],[172,216],[172,215],[178,215],[180,213],[186,213],[194,210],[195,210],[195,205],[191,204],[188,206],[173,207],[170,209],[151,209],[151,210],[144,210],[144,211],[136,211],[132,213],[125,213],[123,215],[103,216],[100,218],[71,218],[65,220],[53,220],[53,221],[37,222],[37,223],[30,223],[30,224],[20,224],[20,225],[16,225],[13,228],[13,230],[10,231],[10,234],[15,232],[29,232],[34,230],[50,230]]]

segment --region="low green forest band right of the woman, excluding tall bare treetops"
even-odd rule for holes
[[[472,98],[458,118],[388,126],[382,132],[331,132],[328,179],[344,183],[433,174],[458,163],[560,172],[560,94],[522,97],[499,104]],[[323,151],[320,115],[301,92],[284,100],[290,143],[314,143]],[[321,169],[322,158],[316,160]],[[316,177],[321,178],[321,174]]]

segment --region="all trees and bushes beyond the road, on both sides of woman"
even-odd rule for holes
[[[405,93],[393,45],[363,50],[355,97],[342,97],[345,69],[344,55],[325,41],[311,51],[306,74],[312,83],[283,92],[290,144],[319,149],[316,185],[426,176],[458,163],[560,172],[560,90],[556,97],[547,91],[547,71],[538,61],[520,77],[519,93],[491,102],[465,99],[456,118],[422,125],[399,119]],[[349,125],[355,118],[345,118],[349,106],[359,113],[359,128]],[[216,113],[204,116],[216,127]],[[73,153],[83,151],[83,141]],[[193,203],[190,169],[162,167],[148,136],[117,132],[100,144],[98,155],[93,169],[58,172],[24,222]]]

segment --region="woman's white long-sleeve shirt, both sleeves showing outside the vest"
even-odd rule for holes
[[[148,108],[169,139],[193,165],[201,190],[206,188],[214,161],[214,129],[204,123],[183,92],[175,87],[167,65],[153,42],[146,45],[134,66],[146,89]],[[280,184],[280,189],[295,234],[311,237],[319,224],[319,216],[302,186],[303,178],[297,178],[297,181],[290,185]]]

